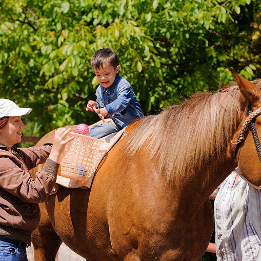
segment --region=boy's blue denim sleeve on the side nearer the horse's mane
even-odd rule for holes
[[[117,90],[117,98],[105,107],[108,116],[123,111],[129,105],[131,99],[131,88],[128,85],[122,85],[121,88]]]

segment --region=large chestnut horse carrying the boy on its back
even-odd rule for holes
[[[236,166],[261,185],[251,131],[236,159],[231,142],[249,103],[253,111],[261,107],[261,81],[233,72],[238,86],[195,94],[129,125],[90,189],[61,186],[49,196],[32,234],[35,260],[55,260],[62,241],[92,261],[202,260],[214,229],[210,194]],[[259,135],[260,126],[257,117]]]

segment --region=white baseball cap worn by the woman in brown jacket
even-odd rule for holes
[[[20,108],[10,99],[0,99],[0,118],[7,116],[23,116],[31,112],[31,108]]]

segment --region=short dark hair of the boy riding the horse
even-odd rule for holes
[[[104,64],[109,64],[116,69],[119,65],[117,54],[110,48],[99,49],[92,56],[91,67],[93,70],[103,68]]]

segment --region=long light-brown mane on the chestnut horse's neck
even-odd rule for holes
[[[253,81],[260,84],[261,81]],[[216,93],[195,93],[182,105],[173,105],[158,115],[145,117],[125,142],[125,156],[143,147],[157,158],[158,171],[167,180],[186,175],[218,157],[231,141],[240,116],[243,96],[238,86],[228,85]],[[245,113],[247,113],[248,102]],[[175,175],[174,175],[175,174]]]

